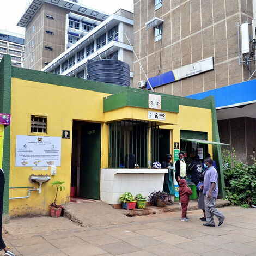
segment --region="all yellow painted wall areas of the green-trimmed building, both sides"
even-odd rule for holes
[[[62,136],[62,130],[70,130],[70,139],[62,139],[62,162],[57,167],[57,175],[51,176],[51,181],[42,185],[42,193],[31,192],[28,199],[15,199],[9,202],[9,215],[23,214],[47,214],[49,204],[55,194],[55,188],[51,186],[54,180],[65,180],[66,190],[59,193],[57,203],[69,202],[70,197],[70,173],[72,151],[72,123],[73,120],[102,123],[101,132],[101,167],[108,165],[108,126],[105,121],[120,118],[121,115],[136,115],[136,118],[148,120],[148,109],[122,108],[109,113],[103,113],[103,97],[107,93],[92,92],[52,84],[38,83],[12,78],[11,85],[11,137],[10,137],[10,187],[26,187],[38,184],[29,183],[31,174],[50,175],[47,171],[32,170],[32,167],[15,167],[16,135],[31,135],[29,116],[47,116],[47,135]],[[126,110],[125,110],[126,109]],[[113,116],[114,115],[114,116]],[[126,116],[125,116],[126,117]],[[199,120],[199,121],[198,121]],[[180,113],[167,113],[168,123],[177,125],[161,126],[171,129],[172,142],[180,141],[180,130],[192,130],[208,132],[209,140],[212,139],[211,110],[196,107],[180,106]],[[0,127],[1,128],[1,127]],[[42,135],[42,134],[41,134]],[[211,147],[209,152],[212,153]],[[27,196],[27,189],[10,190],[10,197]]]

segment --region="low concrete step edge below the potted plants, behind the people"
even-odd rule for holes
[[[230,202],[227,200],[216,200],[216,207],[224,207],[229,206]],[[197,200],[191,200],[188,204],[188,211],[191,210],[198,210],[198,202]],[[142,215],[149,215],[149,214],[162,214],[164,212],[174,212],[174,211],[181,211],[181,205],[179,205],[179,202],[173,202],[171,205],[167,205],[166,207],[156,207],[156,206],[148,206],[145,209],[135,209],[135,210],[123,210],[118,209],[117,211],[123,212],[124,215],[129,217],[135,217],[135,216],[142,216]]]

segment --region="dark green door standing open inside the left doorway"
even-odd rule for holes
[[[101,124],[90,123],[81,129],[81,169],[79,196],[100,200]]]

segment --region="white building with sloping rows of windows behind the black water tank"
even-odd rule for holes
[[[87,78],[88,60],[111,59],[117,56],[130,65],[131,84],[133,83],[133,52],[126,39],[125,34],[133,43],[133,13],[119,9],[116,13],[109,16],[97,27],[90,29],[88,23],[84,25],[83,16],[69,13],[69,21],[76,19],[76,28],[69,27],[66,51],[52,60],[42,71],[52,72],[55,74]],[[70,20],[72,18],[72,20]],[[73,25],[73,23],[72,23]],[[70,41],[71,38],[77,40],[84,32],[81,30],[88,28],[88,32],[78,41]],[[84,27],[86,26],[86,27]],[[72,33],[72,34],[70,34]],[[70,45],[72,43],[72,45]]]

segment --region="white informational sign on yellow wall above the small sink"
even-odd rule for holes
[[[15,166],[60,166],[61,137],[16,136]]]

